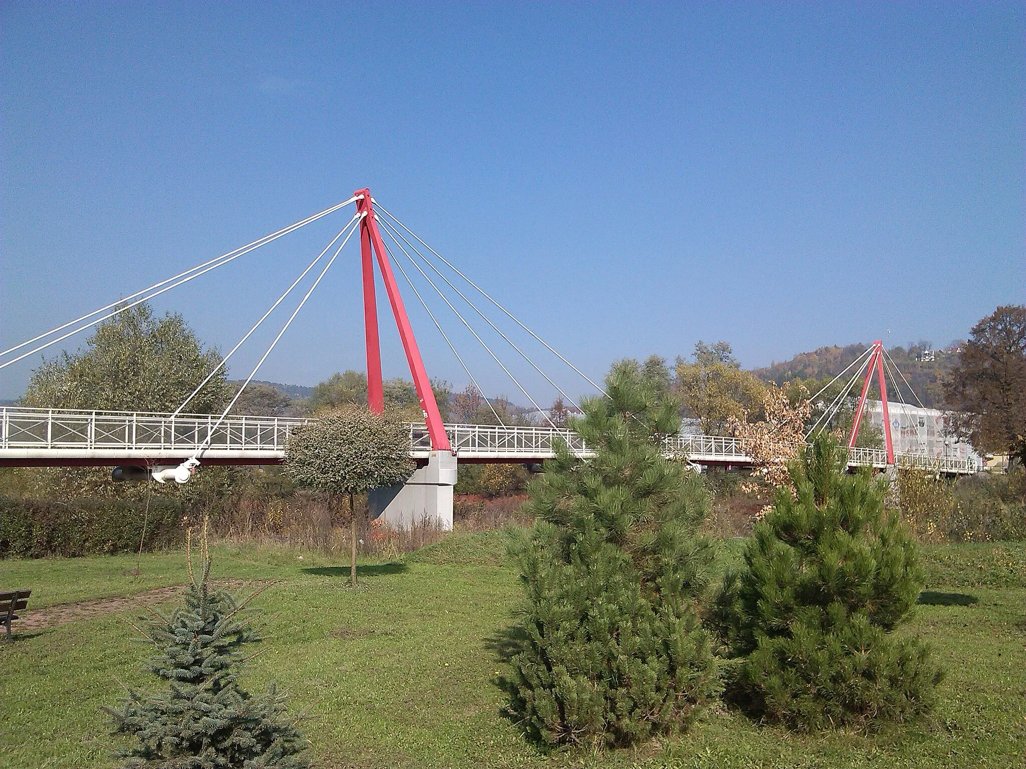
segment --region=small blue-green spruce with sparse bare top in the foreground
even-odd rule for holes
[[[147,670],[168,683],[159,693],[129,689],[114,717],[114,733],[139,744],[120,754],[125,767],[142,769],[306,769],[307,747],[284,719],[285,697],[272,685],[253,697],[239,686],[245,661],[240,648],[259,641],[243,619],[248,599],[236,602],[210,584],[205,536],[197,580],[170,617],[149,610],[143,635],[157,647]],[[188,550],[187,550],[188,552]]]

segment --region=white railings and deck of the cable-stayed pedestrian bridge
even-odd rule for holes
[[[177,464],[201,450],[204,464],[278,464],[289,433],[310,419],[210,414],[84,411],[8,406],[0,412],[0,467],[104,467]],[[492,424],[445,424],[460,461],[542,462],[561,439],[581,457],[584,440],[568,430]],[[677,435],[665,439],[667,455],[696,464],[753,463],[737,438]],[[205,446],[205,448],[204,448]],[[425,424],[409,424],[409,455],[425,460],[431,438]],[[883,449],[850,450],[850,467],[886,467]],[[896,454],[899,467],[946,475],[976,473],[972,459]]]

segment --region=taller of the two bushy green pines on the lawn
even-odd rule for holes
[[[532,483],[536,525],[514,544],[527,640],[507,682],[510,711],[549,744],[629,744],[685,728],[718,689],[699,617],[712,545],[697,535],[701,480],[664,458],[676,402],[636,363],[574,420],[595,450],[565,446]]]

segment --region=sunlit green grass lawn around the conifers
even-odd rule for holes
[[[305,732],[325,769],[1026,766],[1026,544],[926,550],[931,603],[908,632],[933,642],[948,674],[929,719],[872,735],[801,736],[715,709],[665,744],[546,755],[503,717],[494,683],[519,599],[500,539],[457,534],[404,563],[364,564],[356,591],[348,567],[316,555],[216,548],[215,577],[280,580],[258,599],[277,616],[244,684],[277,681],[294,711],[310,709]],[[41,608],[186,577],[182,554],[141,565],[135,576],[134,556],[0,561],[0,588],[31,586]],[[140,670],[148,654],[117,614],[0,646],[0,766],[117,766],[100,706],[118,702],[118,681],[155,683]]]

